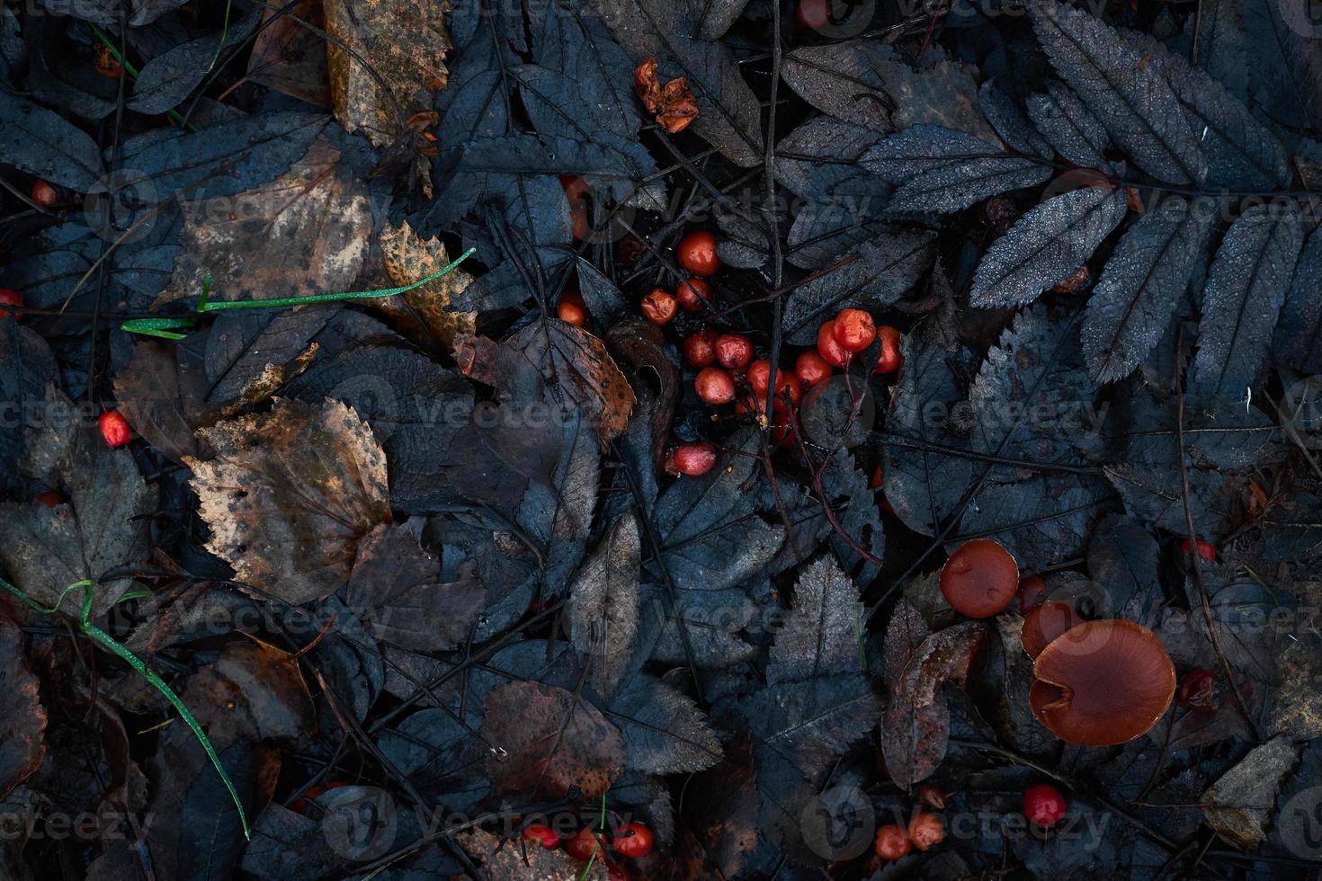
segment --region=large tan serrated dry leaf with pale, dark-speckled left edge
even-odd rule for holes
[[[338,402],[276,399],[271,413],[201,435],[215,458],[185,461],[212,527],[208,549],[239,581],[288,602],[344,586],[358,542],[390,522],[386,456],[371,428]]]

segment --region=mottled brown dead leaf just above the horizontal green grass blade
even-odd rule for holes
[[[340,151],[315,143],[270,184],[189,207],[175,273],[155,305],[197,296],[208,275],[215,301],[346,291],[370,232],[368,185]]]

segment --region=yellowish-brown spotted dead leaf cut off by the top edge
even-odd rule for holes
[[[334,116],[345,131],[362,131],[382,147],[415,112],[432,110],[432,94],[449,79],[442,61],[451,45],[449,3],[325,0],[323,5],[333,37],[327,41],[327,65]]]

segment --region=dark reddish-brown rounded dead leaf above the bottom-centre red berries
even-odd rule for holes
[[[508,756],[486,771],[501,793],[562,798],[578,787],[596,799],[624,771],[624,737],[582,697],[535,682],[512,682],[486,696],[483,737]]]

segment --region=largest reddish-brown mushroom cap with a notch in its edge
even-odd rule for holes
[[[1032,715],[1077,746],[1132,741],[1175,696],[1175,664],[1157,634],[1133,621],[1088,621],[1066,631],[1042,650],[1032,675]]]

